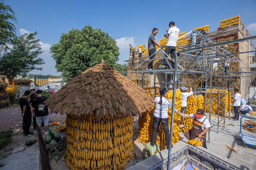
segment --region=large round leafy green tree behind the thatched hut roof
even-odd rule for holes
[[[110,66],[119,68],[119,48],[116,40],[101,31],[85,26],[82,30],[72,29],[62,33],[60,41],[53,44],[50,53],[55,60],[55,68],[64,78],[73,78],[84,70],[105,60]]]

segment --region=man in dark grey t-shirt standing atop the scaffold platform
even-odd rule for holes
[[[160,45],[156,42],[155,35],[157,34],[157,29],[154,28],[152,30],[152,34],[148,37],[148,54],[150,56],[149,59],[155,58],[156,45],[160,47]],[[152,56],[151,56],[152,55]],[[148,64],[148,70],[153,70],[153,60]]]

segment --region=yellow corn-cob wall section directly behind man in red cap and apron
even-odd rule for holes
[[[189,96],[188,99],[187,99],[186,114],[196,113],[196,110],[199,109],[199,108],[204,109],[204,96],[203,95],[196,95],[196,97],[194,97],[194,95]],[[185,133],[189,129],[191,129],[192,128],[192,122],[193,122],[193,119],[184,118],[182,124],[186,127],[186,129],[182,128],[181,131]]]

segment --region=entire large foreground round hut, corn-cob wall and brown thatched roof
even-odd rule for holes
[[[153,99],[105,62],[73,78],[45,101],[67,114],[67,166],[121,169],[133,156],[133,116]]]

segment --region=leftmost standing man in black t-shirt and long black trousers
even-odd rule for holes
[[[21,116],[23,117],[23,123],[22,123],[22,128],[23,128],[23,133],[24,136],[28,136],[30,134],[33,134],[33,132],[29,132],[29,127],[31,125],[31,108],[28,103],[28,96],[30,94],[30,91],[27,90],[24,92],[24,96],[22,96],[19,99],[20,102],[20,108],[21,108]]]

